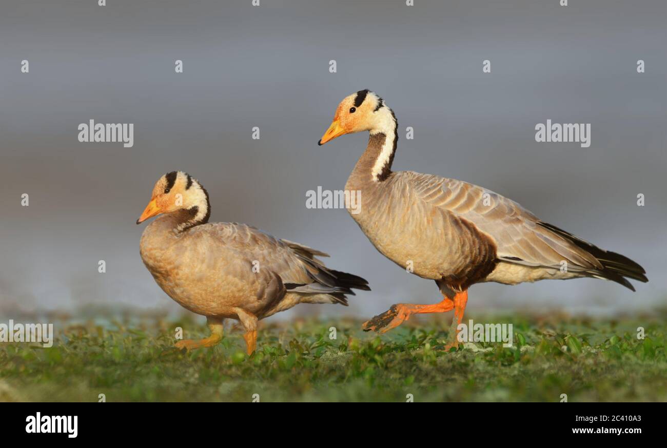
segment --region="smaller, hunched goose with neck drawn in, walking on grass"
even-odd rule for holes
[[[183,171],[160,177],[137,224],[157,215],[141,235],[141,259],[159,287],[211,329],[205,339],[178,341],[179,349],[219,343],[231,318],[243,324],[251,354],[259,319],[297,303],[348,305],[353,288],[370,290],[361,277],[328,269],[315,258],[328,257],[323,252],[244,224],[209,223],[208,193]]]

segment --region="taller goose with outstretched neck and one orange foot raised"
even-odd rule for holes
[[[361,212],[352,217],[382,254],[404,268],[411,265],[420,277],[435,280],[444,296],[436,305],[393,305],[364,323],[365,330],[384,333],[412,314],[452,309],[452,326],[458,326],[468,287],[485,281],[516,285],[596,277],[632,291],[624,277],[648,281],[634,261],[544,223],[493,191],[435,175],[392,171],[397,129],[396,116],[382,98],[360,90],[340,103],[318,143],[370,132],[368,147],[346,185],[346,190],[363,191]]]

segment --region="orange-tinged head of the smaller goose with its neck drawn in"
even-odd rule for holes
[[[201,224],[210,215],[208,193],[197,180],[183,171],[171,171],[157,180],[151,200],[137,219],[137,224],[177,211],[187,211],[184,221],[188,223]]]

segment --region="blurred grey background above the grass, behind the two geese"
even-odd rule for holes
[[[398,117],[394,169],[492,189],[638,261],[650,278],[636,293],[593,279],[476,285],[471,311],[664,304],[664,0],[415,3],[1,1],[0,313],[179,311],[143,267],[145,225],[135,225],[158,177],[179,169],[209,191],[211,221],[326,251],[331,267],[373,288],[347,309],[303,305],[275,318],[440,301],[434,282],[380,255],[346,211],[305,207],[309,189],[342,189],[366,147],[366,134],[317,146],[340,100],[364,88]],[[90,119],[134,123],[134,147],[79,143],[77,125]],[[536,143],[547,119],[591,123],[592,145]]]

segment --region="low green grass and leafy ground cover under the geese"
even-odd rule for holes
[[[101,393],[107,401],[560,401],[563,393],[570,402],[667,401],[664,313],[474,319],[513,323],[515,346],[446,352],[443,316],[382,337],[345,319],[263,324],[252,357],[239,329],[225,329],[212,349],[171,349],[177,326],[186,337],[207,335],[189,319],[63,322],[50,349],[0,344],[0,401],[97,401]]]

